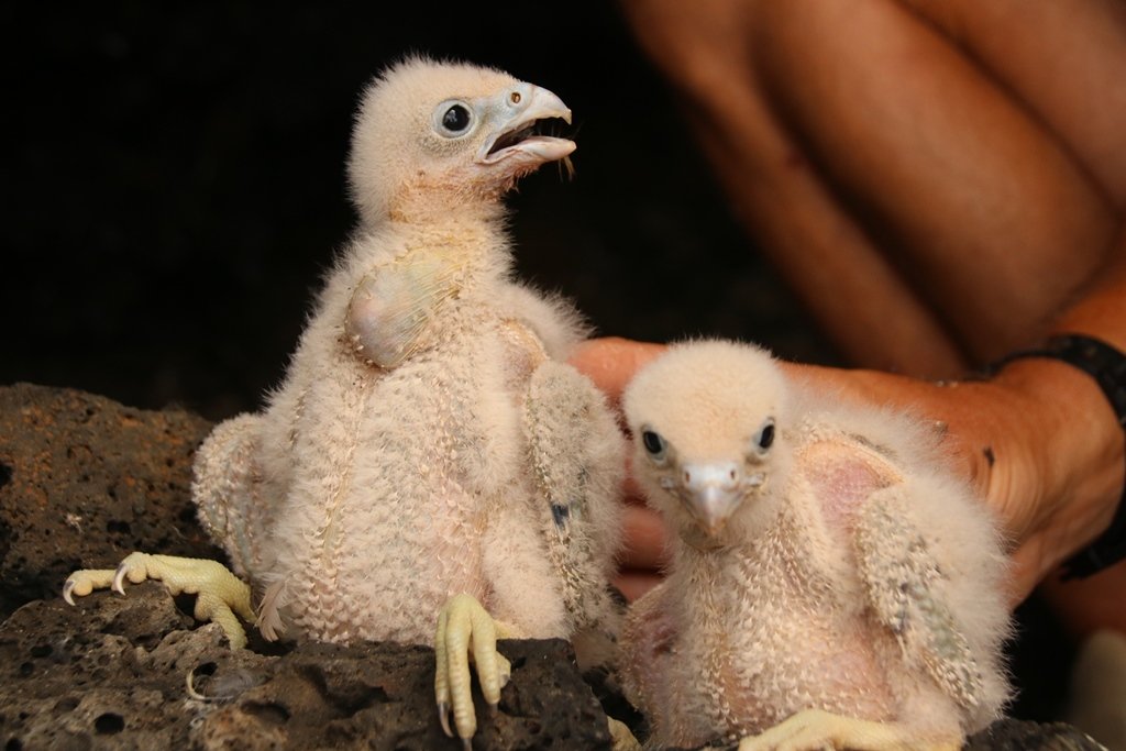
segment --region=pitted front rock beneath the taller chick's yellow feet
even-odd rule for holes
[[[569,644],[502,642],[512,679],[477,699],[474,748],[609,749]],[[191,677],[191,688],[188,677]],[[461,749],[434,709],[434,651],[369,643],[232,652],[157,583],[30,602],[0,626],[5,748]]]

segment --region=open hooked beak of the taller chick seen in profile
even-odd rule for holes
[[[515,160],[525,168],[538,167],[568,157],[575,150],[574,141],[536,132],[543,120],[562,119],[571,124],[571,109],[547,89],[518,83],[506,90],[499,107],[509,113],[477,151],[479,164],[495,164]]]

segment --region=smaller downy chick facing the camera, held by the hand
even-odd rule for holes
[[[674,537],[622,636],[651,746],[953,749],[999,716],[1006,558],[936,431],[724,341],[671,347],[624,409]]]

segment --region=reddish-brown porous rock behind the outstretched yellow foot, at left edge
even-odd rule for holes
[[[221,555],[188,492],[211,430],[69,388],[0,387],[0,618],[133,551]]]

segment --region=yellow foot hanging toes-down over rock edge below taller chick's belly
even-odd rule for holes
[[[477,669],[481,692],[490,707],[500,704],[500,689],[508,682],[512,667],[497,651],[497,640],[515,636],[512,629],[492,616],[470,594],[455,594],[438,613],[434,651],[437,670],[434,677],[438,719],[446,735],[453,737],[449,713],[462,744],[468,749],[477,730],[470,688],[470,659]]]

